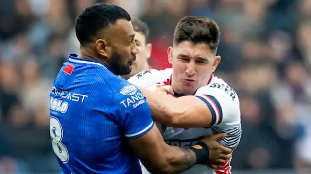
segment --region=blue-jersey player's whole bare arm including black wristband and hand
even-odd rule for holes
[[[180,148],[166,144],[154,126],[145,135],[128,141],[149,172],[176,174],[194,164],[205,164],[216,169],[218,165],[225,163],[231,157],[231,149],[218,143],[225,136],[223,133],[211,135],[191,148]]]

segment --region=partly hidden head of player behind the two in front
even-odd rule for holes
[[[124,79],[128,79],[138,72],[145,70],[149,67],[148,59],[151,55],[152,44],[148,42],[149,27],[143,21],[132,18],[131,22],[135,31],[135,43],[138,47],[138,54],[136,55],[136,61],[132,65],[132,71],[130,74],[123,76]]]

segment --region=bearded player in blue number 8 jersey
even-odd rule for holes
[[[129,74],[138,48],[129,14],[107,3],[76,18],[79,55],[70,54],[50,93],[52,148],[64,174],[141,174],[138,158],[155,174],[230,158],[218,134],[199,144],[167,145]]]

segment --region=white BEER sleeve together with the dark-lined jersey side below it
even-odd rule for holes
[[[196,96],[207,104],[212,113],[212,132],[227,133],[219,143],[232,150],[236,149],[242,135],[240,102],[236,92],[227,84],[213,83],[200,88]]]

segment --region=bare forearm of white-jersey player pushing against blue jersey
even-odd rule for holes
[[[212,124],[212,111],[196,96],[175,98],[140,89],[145,95],[155,120],[172,127],[207,127]]]

